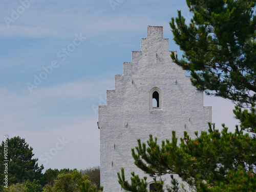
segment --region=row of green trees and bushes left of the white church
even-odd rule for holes
[[[81,170],[88,175],[82,176],[76,169],[48,169],[44,175],[41,174],[44,167],[38,167],[36,161],[32,159],[34,154],[33,148],[25,142],[25,139],[13,137],[8,141],[8,188],[3,187],[3,182],[0,184],[0,189],[5,192],[61,192],[61,191],[79,191],[79,186],[82,182],[90,179],[93,176],[93,183],[90,182],[90,192],[97,191],[99,187],[99,167],[92,169]],[[4,141],[0,145],[0,159],[4,161]],[[4,164],[0,164],[0,179],[4,180]],[[42,187],[40,184],[45,185]],[[20,183],[20,184],[19,184]],[[97,185],[98,184],[98,185]],[[1,191],[2,191],[1,190]]]

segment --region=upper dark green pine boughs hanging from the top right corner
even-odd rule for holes
[[[173,60],[191,72],[198,90],[249,105],[256,99],[256,1],[187,0],[189,25],[178,11],[174,40],[184,51]],[[211,91],[209,91],[211,90]]]

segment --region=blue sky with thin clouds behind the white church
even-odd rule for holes
[[[0,140],[25,138],[45,170],[99,165],[97,106],[148,25],[182,55],[168,24],[177,10],[190,19],[185,0],[1,0]],[[229,101],[204,105],[218,128],[237,124]]]

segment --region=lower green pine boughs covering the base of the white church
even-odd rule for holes
[[[179,146],[175,132],[172,142],[162,141],[161,146],[152,135],[147,141],[147,148],[146,144],[141,144],[138,139],[136,152],[132,151],[135,164],[155,177],[177,174],[189,185],[196,186],[198,191],[221,191],[236,187],[241,188],[241,191],[250,191],[253,187],[256,188],[254,137],[250,137],[248,133],[244,134],[242,130],[228,132],[224,125],[223,130],[219,132],[210,124],[208,133],[202,132],[200,136],[197,133],[196,135],[196,139],[191,139],[185,132]],[[146,191],[138,190],[138,187],[146,186],[138,176],[133,175],[131,185],[124,177],[121,178],[120,174],[118,177],[119,183],[125,190]],[[172,184],[173,190],[169,191],[178,191],[177,184],[174,181]]]

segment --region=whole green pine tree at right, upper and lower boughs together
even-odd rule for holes
[[[174,62],[191,73],[191,83],[207,94],[226,98],[237,104],[233,110],[240,121],[236,131],[222,131],[209,123],[208,132],[187,132],[162,141],[150,135],[147,143],[132,149],[135,164],[148,176],[169,174],[168,191],[179,187],[178,175],[196,191],[255,191],[256,188],[256,1],[187,0],[193,18],[189,23],[178,11],[172,18],[174,40],[184,52]],[[242,107],[249,107],[245,109]],[[132,173],[125,180],[118,173],[121,187],[128,191],[147,191],[146,177]],[[164,191],[163,181],[156,181],[157,191]]]

